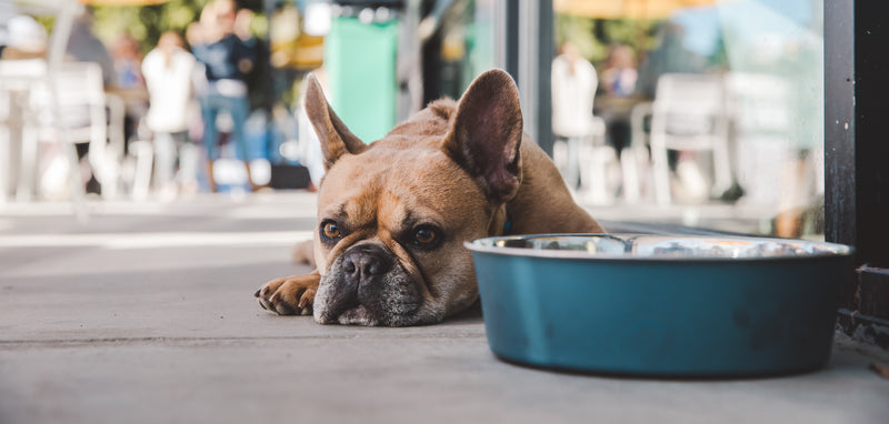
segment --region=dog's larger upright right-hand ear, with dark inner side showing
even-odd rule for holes
[[[521,107],[508,73],[490,70],[469,85],[442,149],[469,172],[488,199],[507,202],[521,184]]]

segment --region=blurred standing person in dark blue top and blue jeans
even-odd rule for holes
[[[246,18],[249,16],[239,14],[233,0],[216,0],[204,7],[199,24],[191,26],[188,32],[192,53],[206,68],[207,87],[200,95],[200,104],[207,172],[212,191],[217,191],[213,159],[217,154],[216,121],[220,111],[231,117],[231,135],[237,143],[238,155],[247,169],[250,189],[257,189],[250,174],[244,134],[244,122],[249,113],[246,77],[254,62],[253,49],[244,41],[249,40]]]

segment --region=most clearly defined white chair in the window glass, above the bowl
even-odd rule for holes
[[[658,79],[651,104],[651,160],[655,195],[671,202],[668,150],[710,152],[712,191],[731,186],[729,125],[722,78],[709,74],[668,73]]]

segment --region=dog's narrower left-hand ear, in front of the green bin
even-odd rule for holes
[[[314,133],[321,141],[321,153],[324,157],[324,169],[333,166],[343,154],[359,154],[368,149],[361,139],[352,134],[333,109],[328,104],[321,84],[313,74],[306,80],[306,114],[314,127]]]

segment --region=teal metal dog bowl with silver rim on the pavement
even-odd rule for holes
[[[823,366],[848,246],[635,234],[467,243],[500,359],[592,373],[725,377]]]

